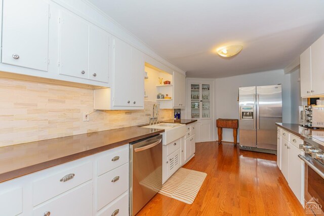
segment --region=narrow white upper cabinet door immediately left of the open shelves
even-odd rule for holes
[[[144,107],[144,55],[132,48],[132,80],[131,80],[131,106]]]

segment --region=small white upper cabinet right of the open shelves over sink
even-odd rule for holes
[[[183,74],[173,72],[173,107],[185,107],[186,78]]]

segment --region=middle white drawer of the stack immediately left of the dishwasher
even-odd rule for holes
[[[109,202],[129,188],[129,163],[125,163],[97,180],[97,210],[100,210]]]

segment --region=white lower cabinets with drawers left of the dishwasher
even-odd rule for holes
[[[129,215],[129,145],[0,183],[0,215]]]

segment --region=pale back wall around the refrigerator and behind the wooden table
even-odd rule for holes
[[[295,74],[294,74],[295,75]],[[239,118],[238,88],[282,84],[282,122],[291,122],[291,79],[284,70],[265,71],[238,76],[217,78],[215,84],[214,122],[217,118]],[[295,76],[294,76],[295,77]],[[300,91],[299,91],[300,92]],[[299,93],[300,94],[300,93]],[[215,133],[215,140],[218,140]],[[239,135],[237,136],[239,142]],[[223,141],[233,142],[232,129],[223,129]]]

